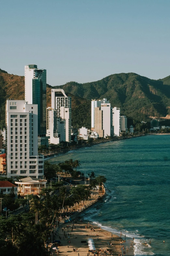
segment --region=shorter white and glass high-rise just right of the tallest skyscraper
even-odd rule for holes
[[[59,144],[65,141],[65,119],[57,117],[57,109],[47,108],[47,136],[49,143]]]

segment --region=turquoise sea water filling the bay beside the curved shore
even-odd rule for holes
[[[89,210],[87,219],[135,237],[135,255],[169,255],[170,135],[107,142],[49,161],[70,158],[80,160],[81,172],[105,175],[111,190],[100,209]]]

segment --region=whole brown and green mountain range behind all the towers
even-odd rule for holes
[[[72,97],[73,127],[91,127],[91,99],[107,98],[112,107],[120,107],[121,115],[137,121],[170,115],[170,76],[152,80],[135,73],[120,73],[83,84],[47,84],[47,107],[51,105],[51,88],[62,88]],[[0,128],[5,126],[7,98],[24,99],[24,76],[0,69]]]

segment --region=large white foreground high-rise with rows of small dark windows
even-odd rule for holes
[[[38,155],[37,137],[38,106],[22,100],[7,100],[7,177],[43,177],[44,156]]]

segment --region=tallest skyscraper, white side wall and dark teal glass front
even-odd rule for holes
[[[38,104],[38,136],[46,136],[46,69],[25,66],[25,101]]]

